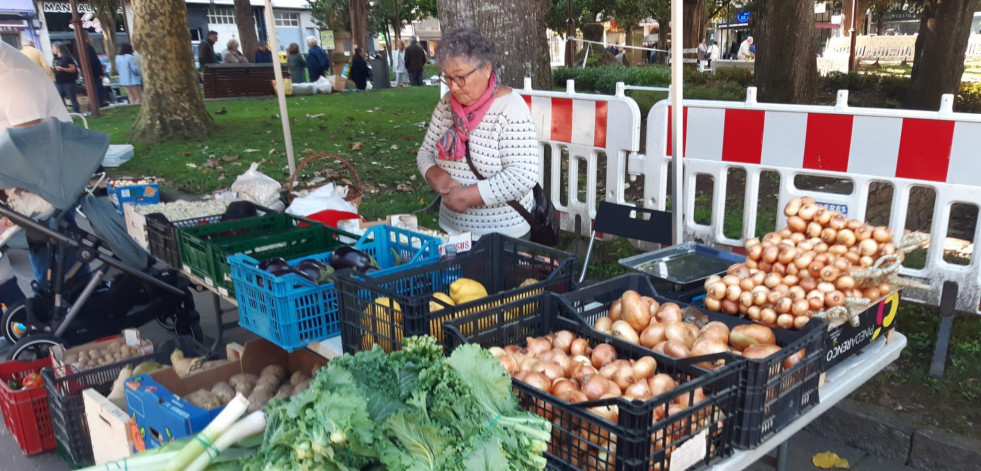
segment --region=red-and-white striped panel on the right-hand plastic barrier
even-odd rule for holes
[[[981,186],[981,122],[694,106],[684,121],[686,158]]]

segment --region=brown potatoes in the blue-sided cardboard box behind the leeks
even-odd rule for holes
[[[217,409],[224,407],[241,393],[249,400],[248,412],[262,409],[272,399],[286,399],[296,396],[310,386],[313,375],[319,367],[309,373],[297,370],[290,375],[279,365],[269,365],[262,369],[259,376],[251,373],[239,373],[228,381],[219,381],[211,389],[198,389],[184,396],[184,400],[202,409]]]

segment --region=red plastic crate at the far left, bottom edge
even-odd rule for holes
[[[0,363],[0,408],[3,410],[3,422],[17,440],[21,453],[25,455],[36,455],[55,448],[48,396],[44,388],[14,391],[7,387],[7,381],[20,381],[27,375],[50,366],[50,358]]]

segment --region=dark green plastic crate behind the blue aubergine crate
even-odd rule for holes
[[[344,239],[342,239],[344,238]],[[235,296],[228,257],[293,259],[357,242],[358,236],[290,214],[178,229],[181,269],[204,280],[223,296]]]

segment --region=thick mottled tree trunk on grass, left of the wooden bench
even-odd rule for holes
[[[130,138],[203,139],[214,127],[194,70],[184,0],[135,0],[133,45],[143,57],[143,105]]]

